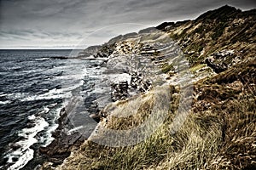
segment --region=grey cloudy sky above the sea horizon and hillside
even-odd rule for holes
[[[77,48],[255,0],[0,0],[0,48]]]

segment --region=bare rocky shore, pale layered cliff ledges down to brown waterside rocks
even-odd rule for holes
[[[150,40],[152,35],[155,37],[154,42]],[[110,91],[102,92],[106,96],[109,95],[108,102],[129,99],[134,95],[144,94],[154,86],[166,81],[168,75],[164,75],[167,71],[163,72],[161,65],[168,65],[169,62],[166,59],[177,53],[177,47],[170,38],[166,39],[163,35],[165,35],[164,32],[150,28],[140,31],[139,34],[115,37],[102,46],[86,48],[77,59],[88,59],[92,68],[102,69],[100,77],[102,80],[108,79],[108,81],[101,82],[99,87],[110,87]],[[96,84],[94,86],[96,88]],[[102,96],[86,95],[87,99],[84,99],[84,105],[89,116],[95,122],[100,122],[106,117],[102,112],[103,108],[100,108],[98,104]],[[102,100],[104,101],[104,99]],[[94,130],[92,127],[86,131],[86,134],[79,131],[68,133],[67,129],[74,128],[69,115],[72,114],[71,107],[73,105],[75,104],[71,101],[70,106],[61,109],[59,126],[52,134],[55,139],[51,144],[41,147],[39,150],[53,167],[61,164],[67,156],[70,156],[72,150],[78,149]]]

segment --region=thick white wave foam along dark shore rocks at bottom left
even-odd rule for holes
[[[19,145],[20,148],[17,150],[9,150],[7,156],[9,163],[14,163],[9,170],[20,169],[26,165],[26,163],[33,158],[34,150],[30,147],[32,144],[38,142],[38,139],[35,138],[37,133],[44,130],[45,127],[49,126],[49,123],[40,116],[28,116],[28,119],[34,123],[33,127],[26,127],[20,131],[18,136],[23,139],[16,142],[15,145]],[[18,161],[13,161],[13,158],[18,158]]]

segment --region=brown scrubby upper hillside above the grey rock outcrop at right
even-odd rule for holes
[[[243,59],[255,56],[256,9],[241,12],[224,6],[196,20],[172,24],[167,30],[159,27],[179,42],[192,66],[222,49],[235,49]]]

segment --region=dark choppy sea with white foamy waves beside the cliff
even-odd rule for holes
[[[63,99],[83,84],[71,50],[0,50],[0,169],[37,169],[53,138]],[[63,88],[63,82],[65,87]]]

